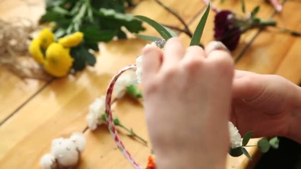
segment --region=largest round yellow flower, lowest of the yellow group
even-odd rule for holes
[[[69,51],[59,43],[51,43],[46,50],[45,70],[55,77],[67,75],[73,63]]]

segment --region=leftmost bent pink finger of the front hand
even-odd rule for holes
[[[162,57],[163,52],[158,47],[149,45],[143,49],[143,81],[147,81],[159,71]]]

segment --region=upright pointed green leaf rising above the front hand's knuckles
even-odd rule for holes
[[[201,36],[204,31],[204,27],[205,27],[205,24],[206,24],[206,21],[208,18],[209,11],[210,11],[210,4],[207,6],[207,9],[206,9],[204,15],[201,17],[201,20],[197,26],[197,29],[191,39],[191,42],[190,42],[191,46],[200,44]]]

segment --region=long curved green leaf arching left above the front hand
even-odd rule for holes
[[[156,21],[141,15],[136,15],[135,17],[151,25],[162,36],[163,39],[168,40],[172,38],[171,34]]]

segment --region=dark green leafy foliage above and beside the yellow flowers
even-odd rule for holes
[[[81,71],[86,65],[95,65],[89,49],[98,51],[99,42],[109,42],[115,36],[127,38],[121,27],[132,33],[145,30],[141,21],[124,13],[131,5],[131,0],[46,0],[46,13],[40,23],[54,23],[56,39],[77,31],[84,33],[82,44],[71,48],[73,69]]]

